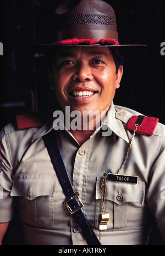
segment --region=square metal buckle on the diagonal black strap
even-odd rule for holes
[[[70,214],[75,213],[76,211],[80,210],[83,207],[83,202],[81,202],[79,195],[75,192],[73,196],[66,199],[64,201],[65,205],[67,206],[68,211]]]

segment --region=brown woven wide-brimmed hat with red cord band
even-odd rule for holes
[[[50,43],[38,46],[146,46],[119,44],[116,15],[103,0],[65,0],[54,11]]]

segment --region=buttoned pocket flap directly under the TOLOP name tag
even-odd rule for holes
[[[145,182],[139,181],[138,184],[124,182],[107,181],[106,200],[113,201],[118,205],[125,202],[144,203]],[[97,177],[96,199],[101,198],[101,177]]]

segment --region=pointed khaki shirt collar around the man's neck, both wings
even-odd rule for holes
[[[61,125],[59,122],[56,121],[57,118],[53,118],[52,121],[48,121],[46,124],[44,124],[41,128],[39,128],[36,133],[32,137],[32,142],[42,137],[43,135],[46,135],[49,133],[53,128],[57,128],[59,125]],[[63,126],[61,126],[63,129],[65,129]],[[118,118],[116,118],[116,109],[114,107],[113,102],[111,103],[111,106],[106,114],[105,120],[102,122],[101,125],[102,129],[105,130],[105,127],[108,127],[114,134],[116,134],[118,137],[124,139],[127,143],[129,143],[129,139],[127,136],[127,133],[125,132],[124,126],[122,121],[120,121]],[[59,129],[59,127],[58,127]],[[95,135],[100,128],[98,128],[92,135]],[[109,134],[110,135],[110,134]],[[105,133],[106,136],[106,133]]]

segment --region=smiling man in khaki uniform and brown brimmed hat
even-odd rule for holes
[[[45,47],[59,108],[53,121],[18,116],[1,132],[0,237],[17,200],[26,244],[147,244],[153,216],[164,238],[165,129],[113,105],[123,74],[114,11],[82,0],[56,14],[61,27]]]

